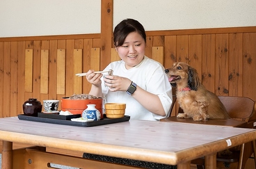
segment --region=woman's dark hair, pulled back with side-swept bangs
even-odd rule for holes
[[[122,46],[125,42],[125,38],[131,32],[137,32],[146,42],[146,33],[143,25],[135,19],[124,19],[117,26],[115,26],[113,33],[115,47]]]

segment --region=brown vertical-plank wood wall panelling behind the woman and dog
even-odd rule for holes
[[[23,113],[31,97],[42,102],[88,93],[85,77],[74,74],[118,60],[107,42],[110,55],[102,54],[100,34],[0,38],[0,117]],[[189,63],[216,95],[256,101],[256,27],[147,31],[146,55],[166,68]]]

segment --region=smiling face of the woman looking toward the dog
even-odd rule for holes
[[[145,40],[137,32],[131,32],[125,38],[125,42],[120,47],[115,47],[118,55],[125,62],[125,67],[129,70],[141,63],[145,55]]]

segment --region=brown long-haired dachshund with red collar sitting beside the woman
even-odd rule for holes
[[[170,84],[177,87],[177,102],[184,111],[177,118],[193,118],[194,121],[230,118],[220,99],[202,86],[198,72],[193,67],[178,62],[165,72]]]

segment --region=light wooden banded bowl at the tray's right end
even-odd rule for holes
[[[106,118],[123,118],[125,116],[126,104],[107,103],[104,105]]]

